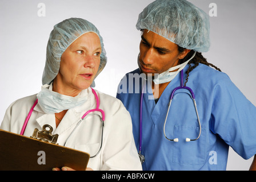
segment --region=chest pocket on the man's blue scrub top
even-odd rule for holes
[[[179,164],[204,164],[205,163],[205,131],[202,128],[198,140],[186,142],[186,138],[195,139],[199,134],[199,127],[174,126],[174,138],[178,142],[173,144],[173,162]]]

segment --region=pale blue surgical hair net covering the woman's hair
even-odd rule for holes
[[[43,85],[50,84],[58,75],[62,53],[70,46],[71,43],[79,38],[79,36],[87,32],[95,32],[101,41],[101,63],[99,64],[97,75],[102,71],[107,63],[107,57],[103,45],[103,39],[99,34],[98,29],[94,24],[85,19],[70,18],[56,24],[53,31],[51,31],[46,49],[46,63],[42,77]],[[94,85],[94,82],[92,85]]]

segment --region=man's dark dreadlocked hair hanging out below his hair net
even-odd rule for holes
[[[183,52],[184,50],[185,50],[185,48],[178,46],[178,51],[180,53]],[[179,64],[185,63],[186,60],[190,59],[190,57],[192,57],[194,55],[194,53],[195,53],[195,51],[191,50],[189,53],[187,53],[187,55],[183,59],[179,60]],[[184,86],[186,86],[187,81],[189,81],[189,73],[191,71],[193,71],[193,69],[195,67],[197,67],[199,65],[199,63],[205,64],[209,67],[213,67],[216,70],[221,72],[221,69],[219,69],[218,67],[216,67],[215,65],[213,65],[211,63],[208,63],[207,60],[205,59],[205,57],[203,57],[201,52],[197,52],[197,53],[195,53],[195,56],[193,57],[193,59],[191,59],[188,63],[189,69],[187,69],[187,71],[186,71],[187,76],[186,76],[186,81],[185,81]],[[191,64],[194,64],[194,65],[192,66]]]

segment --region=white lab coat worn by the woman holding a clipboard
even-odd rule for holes
[[[117,98],[95,91],[100,101],[99,109],[105,111],[105,125],[101,152],[89,160],[87,167],[94,170],[141,170],[129,112]],[[35,128],[41,131],[42,126],[48,124],[53,127],[53,134],[59,135],[57,143],[63,146],[82,115],[86,111],[96,108],[96,101],[91,88],[87,89],[87,93],[86,103],[69,109],[57,128],[54,114],[44,113],[37,104],[27,123],[24,135],[30,137]],[[0,128],[19,134],[36,99],[35,94],[13,102],[6,110]],[[98,115],[89,114],[67,140],[65,146],[88,152],[93,156],[98,152],[101,144],[101,131],[101,120]]]

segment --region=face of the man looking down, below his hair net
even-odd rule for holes
[[[179,64],[185,55],[179,53],[178,45],[154,32],[143,30],[139,44],[140,56],[138,65],[146,75],[162,73]]]

